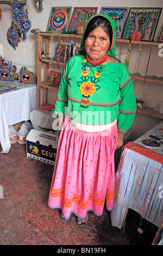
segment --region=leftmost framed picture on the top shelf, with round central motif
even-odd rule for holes
[[[72,7],[52,7],[47,32],[66,32]]]

